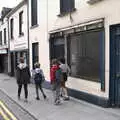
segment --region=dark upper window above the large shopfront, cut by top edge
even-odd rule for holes
[[[60,13],[72,12],[75,8],[75,0],[60,0]]]

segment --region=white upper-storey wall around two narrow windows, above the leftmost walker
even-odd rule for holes
[[[19,13],[23,11],[23,36],[19,36]],[[24,4],[16,12],[9,17],[9,23],[11,19],[14,19],[13,39],[10,40],[10,51],[28,49],[28,32],[27,32],[27,5]],[[9,24],[10,28],[10,24]],[[9,33],[10,36],[10,33]]]

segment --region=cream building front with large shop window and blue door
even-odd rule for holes
[[[120,104],[119,5],[119,0],[56,0],[51,6],[57,19],[49,29],[50,58],[66,58],[72,96],[104,107]],[[55,18],[48,7],[50,17]]]

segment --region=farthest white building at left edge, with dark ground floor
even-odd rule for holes
[[[0,72],[8,73],[8,19],[10,8],[3,7],[0,19]]]

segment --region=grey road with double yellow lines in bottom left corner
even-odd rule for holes
[[[36,118],[0,91],[0,120],[36,120]]]

